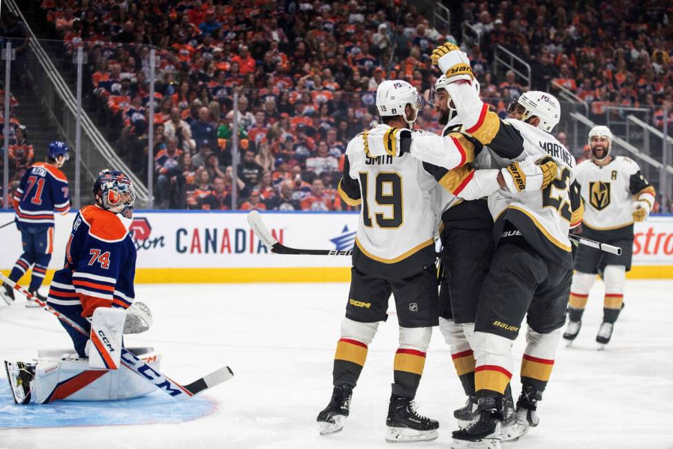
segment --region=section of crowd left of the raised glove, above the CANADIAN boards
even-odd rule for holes
[[[343,154],[376,121],[376,87],[400,76],[427,91],[435,79],[429,55],[445,36],[408,6],[386,74],[394,1],[300,2],[297,10],[276,1],[213,3],[41,6],[66,54],[86,47],[90,97],[134,171],[145,169],[152,148],[159,207],[232,208],[235,132],[238,208],[349,209],[337,194]],[[159,59],[148,145],[150,45]],[[430,105],[418,125],[439,129]]]

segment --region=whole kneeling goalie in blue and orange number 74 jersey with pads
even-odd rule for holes
[[[123,334],[146,331],[152,323],[148,307],[133,302],[136,249],[122,221],[132,217],[134,189],[121,171],[103,170],[93,192],[95,204],[80,209],[72,223],[64,267],[54,273],[47,299],[87,335],[59,321],[77,357],[48,361],[48,368],[40,368],[44,360],[6,361],[17,404],[125,399],[154,388],[119,369]]]

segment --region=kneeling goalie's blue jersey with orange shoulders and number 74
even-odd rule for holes
[[[88,328],[83,317],[97,307],[128,309],[135,267],[136,248],[119,216],[96,205],[83,207],[72,223],[65,266],[54,273],[47,303]]]

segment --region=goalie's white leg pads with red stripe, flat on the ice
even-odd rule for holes
[[[161,355],[153,348],[128,348],[152,368],[159,370]],[[114,401],[148,395],[156,390],[151,382],[127,368],[92,370],[87,359],[67,356],[68,350],[38,351],[35,378],[30,382],[33,401]],[[66,357],[63,357],[66,355]]]

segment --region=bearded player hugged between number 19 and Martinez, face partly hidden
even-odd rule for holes
[[[512,188],[512,193],[518,194],[519,188],[514,186],[512,173],[521,170],[526,174],[528,189],[543,189],[556,176],[558,167],[553,160],[536,164],[534,156],[529,156],[522,163],[523,167],[519,163],[504,167],[500,158],[492,161],[488,148],[465,132],[445,90],[447,85],[446,77],[440,76],[430,92],[430,103],[436,109],[439,123],[445,125],[442,135],[474,148],[474,161],[452,170],[430,163],[423,163],[423,168],[432,173],[439,183],[442,222],[439,329],[450,347],[456,374],[468,396],[465,406],[454,411],[454,417],[462,427],[476,417],[474,355],[468,335],[474,332],[481,284],[495,251],[493,218],[486,197],[501,187]],[[473,87],[479,94],[476,80]],[[539,187],[533,187],[535,178],[542,180]],[[508,404],[513,405],[511,390],[508,388],[505,393]]]

